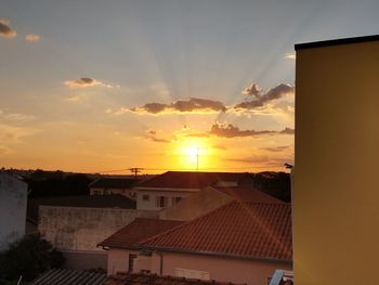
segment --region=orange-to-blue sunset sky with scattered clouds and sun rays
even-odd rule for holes
[[[0,0],[0,167],[293,164],[293,44],[378,34],[379,1]]]

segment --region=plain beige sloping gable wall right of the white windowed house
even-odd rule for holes
[[[177,205],[159,211],[159,219],[188,221],[204,216],[230,202],[233,198],[206,187],[192,196],[181,200]]]

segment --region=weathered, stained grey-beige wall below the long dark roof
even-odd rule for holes
[[[118,208],[40,206],[39,231],[58,249],[103,250],[96,244],[138,217],[156,218],[156,211]]]

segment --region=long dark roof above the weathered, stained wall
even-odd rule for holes
[[[30,198],[27,203],[27,217],[29,219],[38,221],[39,206],[135,209],[136,203],[120,194]]]

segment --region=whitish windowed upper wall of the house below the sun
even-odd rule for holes
[[[198,190],[197,190],[198,191]],[[164,191],[164,190],[138,190],[136,192],[136,208],[142,210],[160,210],[160,207],[157,207],[156,205],[156,197],[157,196],[165,196],[168,199],[168,205],[166,207],[171,207],[174,204],[172,204],[173,197],[188,197],[195,192],[184,192],[184,191]],[[148,195],[149,199],[144,200],[143,195]]]

